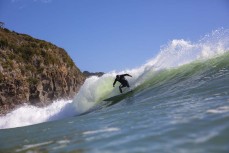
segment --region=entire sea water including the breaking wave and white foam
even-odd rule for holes
[[[103,101],[121,73],[133,94]],[[0,152],[228,153],[229,30],[172,40],[138,68],[88,78],[72,100],[1,116]]]

